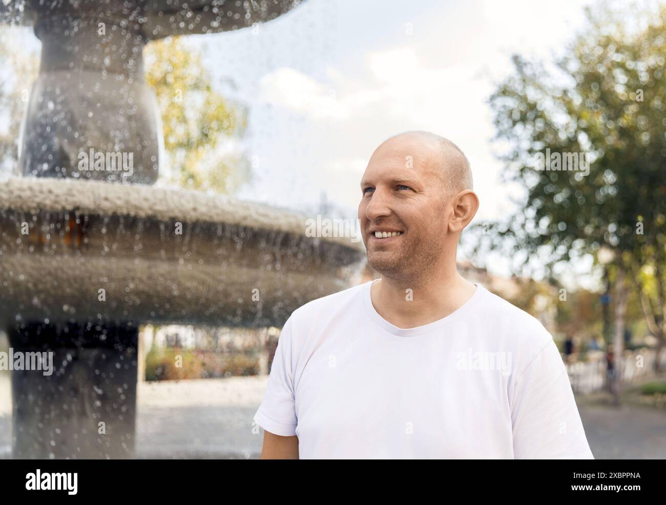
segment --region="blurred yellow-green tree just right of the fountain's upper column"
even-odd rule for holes
[[[144,50],[146,81],[157,95],[170,170],[184,188],[230,192],[249,176],[246,158],[220,150],[222,140],[242,136],[246,110],[212,86],[200,53],[180,37],[153,41]]]

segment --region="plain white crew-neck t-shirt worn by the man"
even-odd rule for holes
[[[370,285],[284,324],[254,421],[306,458],[588,458],[571,384],[541,323],[479,283],[454,313],[400,329]]]

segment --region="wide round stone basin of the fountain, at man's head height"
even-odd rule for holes
[[[0,192],[0,319],[282,325],[353,283],[364,257],[360,242],[305,229],[221,196],[13,178]]]

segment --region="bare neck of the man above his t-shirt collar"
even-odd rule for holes
[[[370,299],[377,313],[392,325],[415,328],[453,313],[476,289],[458,274],[454,265],[438,275],[413,281],[382,276],[372,284]]]

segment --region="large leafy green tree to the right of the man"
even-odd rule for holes
[[[527,194],[520,212],[488,228],[490,247],[526,252],[549,271],[609,248],[616,343],[631,273],[664,262],[665,23],[666,7],[588,9],[585,32],[554,67],[515,55],[513,73],[490,97],[497,138],[508,146],[505,174]],[[589,174],[535,170],[547,148],[587,153]]]

